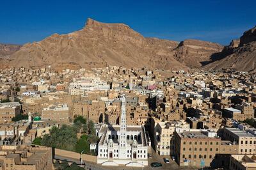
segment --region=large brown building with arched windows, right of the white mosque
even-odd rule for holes
[[[180,166],[225,165],[223,157],[237,154],[238,146],[230,141],[221,141],[212,130],[186,130],[175,132],[175,151]],[[222,156],[222,157],[221,157]]]

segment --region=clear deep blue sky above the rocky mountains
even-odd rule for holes
[[[143,36],[227,45],[256,25],[255,0],[1,0],[0,42],[40,41],[84,27],[88,17],[122,22]]]

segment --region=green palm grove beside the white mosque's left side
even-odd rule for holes
[[[80,137],[77,137],[77,134],[81,134]],[[78,116],[71,126],[52,127],[49,134],[36,138],[33,144],[95,155],[90,151],[90,143],[96,143],[98,139],[93,121]]]

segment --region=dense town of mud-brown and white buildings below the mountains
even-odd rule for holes
[[[0,70],[0,169],[256,169],[256,74]]]

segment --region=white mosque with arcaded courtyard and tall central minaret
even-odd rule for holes
[[[148,165],[148,141],[143,126],[126,124],[125,95],[122,95],[120,125],[101,125],[97,163],[102,166]]]

